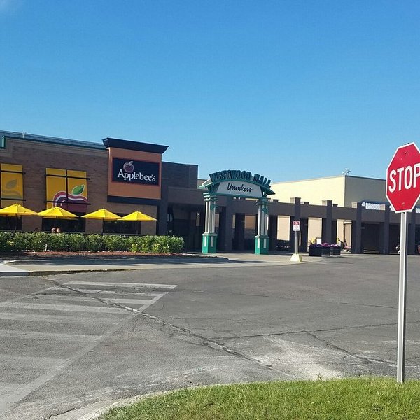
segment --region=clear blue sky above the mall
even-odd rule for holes
[[[0,130],[199,174],[385,178],[420,146],[420,2],[0,0]]]

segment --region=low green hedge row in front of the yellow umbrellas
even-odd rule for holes
[[[180,253],[179,237],[82,235],[67,233],[0,232],[0,252],[16,251],[130,251],[139,253]]]

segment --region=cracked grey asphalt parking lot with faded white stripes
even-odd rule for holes
[[[0,278],[0,418],[79,419],[184,386],[395,375],[398,256],[289,258]],[[407,378],[420,377],[419,264],[409,257]]]

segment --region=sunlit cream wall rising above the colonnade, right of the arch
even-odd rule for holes
[[[344,178],[344,175],[341,175],[306,181],[273,183],[271,188],[276,195],[270,198],[290,203],[290,198],[300,197],[302,202],[310,204],[322,204],[323,200],[332,200],[339,207],[344,207]]]

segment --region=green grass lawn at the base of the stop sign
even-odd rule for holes
[[[183,389],[111,409],[100,420],[414,420],[420,381],[279,381]]]

